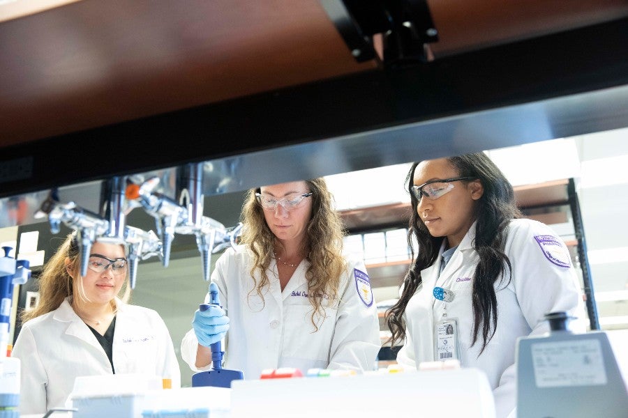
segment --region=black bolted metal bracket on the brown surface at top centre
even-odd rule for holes
[[[431,61],[428,44],[438,31],[426,0],[321,0],[355,59],[375,58],[373,36],[382,33],[384,65]]]

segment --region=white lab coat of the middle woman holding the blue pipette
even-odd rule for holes
[[[258,379],[263,369],[279,367],[304,373],[311,368],[373,369],[381,345],[377,309],[370,286],[359,286],[354,277],[354,269],[366,273],[364,262],[347,262],[338,288],[340,298],[324,301],[327,318],[317,332],[311,323],[313,307],[306,297],[309,262],[301,261],[282,292],[276,262],[271,261],[263,301],[254,290],[251,263],[246,247],[227,249],[211,275],[230,318],[223,369],[244,371],[246,379]],[[260,273],[255,274],[259,283]],[[190,330],[181,342],[181,357],[194,371],[211,369],[211,364],[196,368],[197,344]]]

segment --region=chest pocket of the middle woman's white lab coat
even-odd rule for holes
[[[334,337],[337,309],[325,308],[324,317],[314,317],[318,330],[312,323],[313,307],[308,304],[290,304],[285,307],[285,332],[283,333],[284,357],[329,362],[331,339]]]

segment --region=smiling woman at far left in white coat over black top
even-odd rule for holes
[[[20,413],[63,407],[78,376],[144,373],[181,385],[172,339],[152,309],[128,300],[123,245],[95,242],[87,274],[71,233],[40,276],[40,302],[24,312],[13,357],[21,360]]]

